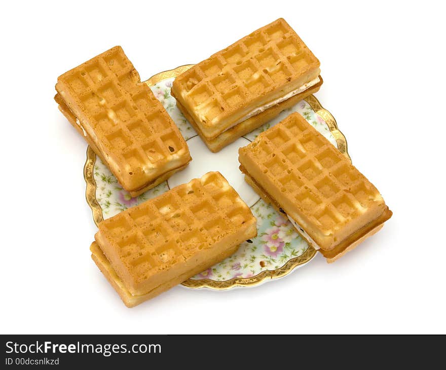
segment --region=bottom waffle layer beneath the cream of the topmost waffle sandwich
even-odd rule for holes
[[[176,105],[178,109],[181,110],[181,113],[184,115],[184,117],[191,123],[192,127],[194,127],[195,131],[200,135],[201,139],[207,145],[209,150],[216,153],[223,149],[225,146],[237,140],[239,137],[246,135],[252,130],[255,130],[257,127],[260,127],[264,123],[267,123],[268,121],[277,117],[283,110],[292,107],[308,95],[315,93],[319,90],[321,85],[322,78],[317,85],[310,87],[305,92],[294,95],[289,99],[280,102],[279,104],[273,105],[271,108],[264,110],[264,112],[252,116],[245,121],[240,122],[238,125],[231,127],[229,130],[222,132],[213,139],[208,139],[203,135],[203,133],[200,131],[199,127],[195,123],[194,119],[189,115],[188,111],[181,105],[179,101],[176,102]]]

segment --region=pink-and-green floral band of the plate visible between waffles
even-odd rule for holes
[[[173,78],[160,81],[151,89],[177,124],[185,140],[188,140],[196,136],[196,132],[178,110],[175,99],[170,95],[172,81]],[[336,139],[331,134],[328,125],[305,100],[286,109],[274,120],[245,135],[245,138],[250,141],[254,140],[259,133],[274,126],[293,112],[299,112],[334,146],[337,146]],[[93,175],[96,181],[96,200],[102,209],[104,219],[168,190],[166,181],[156,188],[132,198],[128,192],[122,189],[115,176],[99,158],[96,158]],[[261,199],[251,207],[251,210],[257,218],[257,237],[242,243],[236,253],[194,276],[191,278],[192,280],[210,279],[221,282],[233,278],[254,277],[263,271],[279,269],[291,259],[299,257],[307,251],[309,248],[307,242],[295,232],[288,219],[284,218],[271,205]]]

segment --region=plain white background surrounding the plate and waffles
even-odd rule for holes
[[[2,5],[0,331],[446,332],[444,12],[434,5],[441,2],[362,4]],[[259,287],[178,286],[127,309],[90,258],[97,229],[85,201],[87,145],[53,101],[57,77],[121,45],[147,79],[279,17],[321,61],[316,96],[393,217],[332,265],[318,255]]]

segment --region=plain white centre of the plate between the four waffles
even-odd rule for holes
[[[228,180],[230,185],[239,193],[248,207],[253,206],[260,197],[244,180],[244,175],[239,170],[240,163],[239,147],[249,144],[249,140],[240,137],[232,144],[224,147],[218,153],[212,153],[200,136],[191,137],[187,140],[192,162],[182,171],[176,172],[168,180],[169,188],[199,178],[209,171],[219,171]]]

